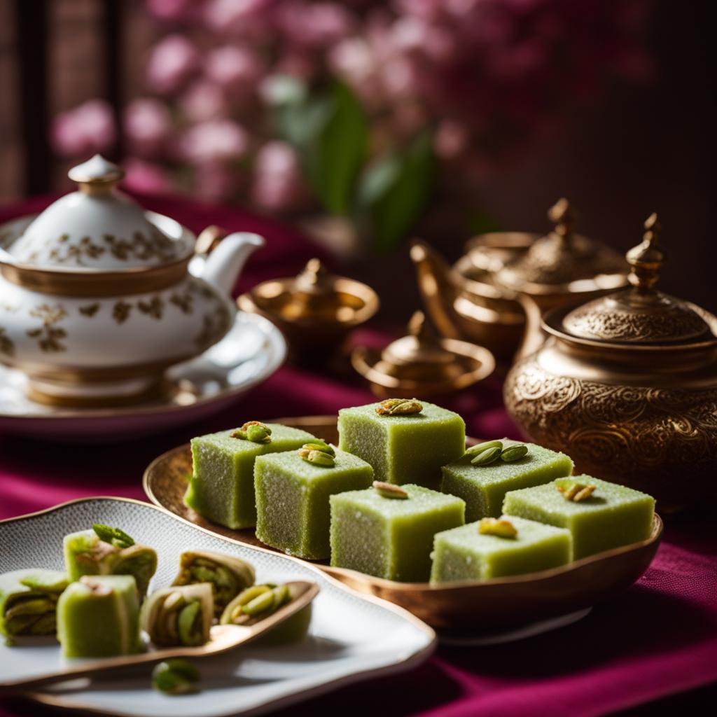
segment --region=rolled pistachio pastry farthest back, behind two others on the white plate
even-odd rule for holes
[[[254,568],[239,558],[209,551],[187,551],[181,554],[179,574],[172,584],[211,583],[218,617],[239,592],[254,584],[254,579]]]

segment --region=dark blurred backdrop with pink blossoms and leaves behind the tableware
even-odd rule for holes
[[[567,196],[621,251],[656,211],[661,287],[716,310],[708,8],[2,0],[0,199],[65,191],[101,151],[139,194],[333,217],[356,273],[409,285],[408,237],[455,260],[477,230],[548,229]]]

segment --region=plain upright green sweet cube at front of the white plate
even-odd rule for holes
[[[65,657],[112,657],[140,649],[139,594],[131,575],[84,575],[57,601]]]

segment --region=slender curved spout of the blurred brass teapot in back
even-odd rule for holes
[[[458,293],[454,271],[438,252],[419,239],[412,242],[410,253],[418,290],[434,326],[446,338],[461,338],[453,307]]]

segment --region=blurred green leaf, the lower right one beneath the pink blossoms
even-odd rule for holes
[[[389,252],[422,214],[433,180],[432,137],[428,130],[402,152],[380,158],[364,174],[359,211],[367,212],[374,248]]]

